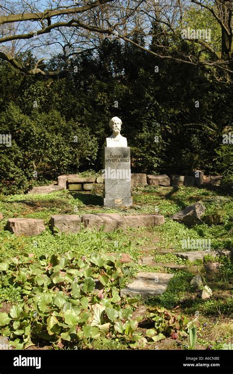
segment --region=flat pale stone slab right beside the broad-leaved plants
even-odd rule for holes
[[[146,299],[152,295],[163,294],[173,276],[174,274],[167,273],[139,272],[135,280],[120,291],[120,295],[132,297],[139,294]]]

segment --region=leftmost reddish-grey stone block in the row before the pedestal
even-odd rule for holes
[[[24,235],[30,237],[39,235],[45,230],[43,219],[39,218],[8,218],[5,230],[17,236]]]

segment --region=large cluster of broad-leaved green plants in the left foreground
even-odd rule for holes
[[[78,258],[45,256],[34,263],[28,254],[0,263],[0,286],[21,288],[22,302],[0,313],[0,334],[16,349],[33,344],[54,348],[91,347],[98,338],[120,337],[130,347],[144,338],[131,320],[139,297],[122,298],[119,288],[133,274],[132,264],[111,255]]]

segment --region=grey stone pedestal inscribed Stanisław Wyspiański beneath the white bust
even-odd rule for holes
[[[131,206],[130,147],[105,147],[104,206]]]

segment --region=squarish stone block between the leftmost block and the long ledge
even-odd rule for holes
[[[81,218],[77,214],[55,214],[50,219],[50,227],[53,232],[58,228],[59,232],[78,233],[81,227]]]

